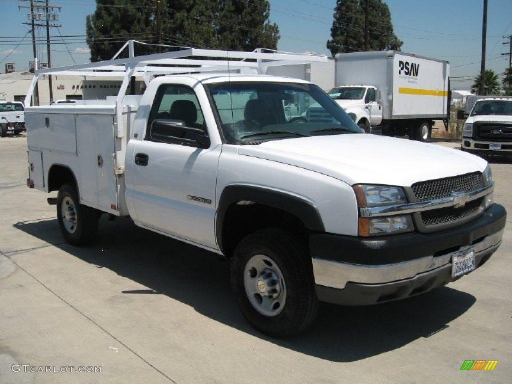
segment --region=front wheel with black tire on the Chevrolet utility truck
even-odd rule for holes
[[[261,261],[265,263],[263,267],[254,267]],[[231,285],[247,321],[271,337],[303,332],[318,312],[311,259],[292,234],[284,230],[263,229],[240,242],[231,264]],[[266,296],[275,296],[278,290],[278,297]],[[271,305],[268,311],[264,301]]]

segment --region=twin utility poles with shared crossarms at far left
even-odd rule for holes
[[[47,49],[48,49],[48,68],[52,66],[52,55],[50,48],[50,28],[60,28],[61,25],[55,24],[58,21],[59,17],[56,11],[60,12],[61,7],[52,7],[50,6],[49,0],[19,0],[22,2],[30,2],[30,7],[28,6],[18,6],[19,10],[22,9],[30,9],[30,13],[28,18],[30,23],[23,23],[24,25],[30,25],[32,27],[32,45],[34,51],[34,71],[39,69],[39,60],[37,57],[37,47],[36,47],[36,38],[35,38],[35,29],[36,28],[44,28],[46,27],[46,41],[47,41]],[[41,23],[42,20],[46,18],[46,23]],[[36,23],[36,21],[38,23]],[[50,24],[51,23],[51,24]],[[49,86],[50,86],[50,102],[53,101],[53,86],[52,86],[52,77],[49,76]],[[35,93],[34,93],[34,105],[39,104],[39,87],[36,85]]]

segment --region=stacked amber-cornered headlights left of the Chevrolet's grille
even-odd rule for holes
[[[392,207],[407,204],[407,197],[400,187],[382,185],[356,185],[354,191],[359,208]],[[379,236],[414,231],[411,215],[386,217],[360,217],[359,236]]]

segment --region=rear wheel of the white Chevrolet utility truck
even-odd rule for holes
[[[98,233],[98,211],[79,203],[71,184],[64,184],[57,196],[57,219],[67,243],[77,247],[89,245]]]

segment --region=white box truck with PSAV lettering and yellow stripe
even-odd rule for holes
[[[434,120],[448,129],[450,64],[384,51],[336,55],[332,98],[367,133],[426,141]]]

